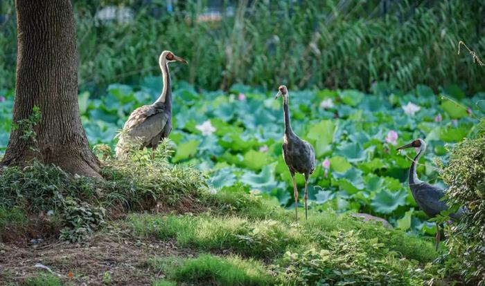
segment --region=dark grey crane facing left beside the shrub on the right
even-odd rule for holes
[[[440,187],[432,186],[427,182],[418,179],[416,173],[416,163],[426,150],[426,142],[422,139],[416,139],[413,142],[400,146],[396,150],[402,150],[414,147],[418,152],[414,157],[411,167],[409,167],[409,189],[411,189],[412,196],[418,206],[431,218],[437,216],[441,211],[448,210],[448,205],[443,200],[445,191]],[[450,218],[458,220],[463,215],[463,209],[460,208],[456,213],[451,213]],[[439,224],[436,222],[436,250],[438,250],[439,240],[441,234],[439,231]]]

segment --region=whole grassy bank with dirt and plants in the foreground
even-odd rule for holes
[[[421,285],[432,277],[423,270],[437,255],[430,240],[332,211],[294,223],[272,200],[213,194],[201,173],[177,168],[163,158],[107,164],[103,181],[39,162],[2,169],[0,233],[9,235],[0,238],[0,281]],[[26,231],[33,223],[37,232]]]

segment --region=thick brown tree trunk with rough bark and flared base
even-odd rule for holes
[[[12,128],[1,164],[33,158],[69,173],[100,177],[78,106],[76,23],[69,0],[17,0],[17,78],[13,122],[38,106],[41,119],[32,138]]]

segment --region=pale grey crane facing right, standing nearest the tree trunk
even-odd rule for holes
[[[152,159],[160,140],[168,137],[172,131],[172,86],[168,63],[179,61],[187,64],[185,59],[177,57],[170,50],[164,50],[159,57],[161,78],[164,88],[159,98],[151,105],[136,108],[119,133],[116,144],[116,157],[120,158],[127,152],[130,144],[141,144],[141,149],[152,148]]]

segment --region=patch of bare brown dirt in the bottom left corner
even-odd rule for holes
[[[73,285],[151,285],[164,274],[150,267],[153,256],[195,254],[178,249],[173,241],[136,240],[123,233],[102,233],[81,244],[58,240],[38,245],[0,242],[0,285],[21,283],[41,271],[37,263],[51,269],[64,282]]]

